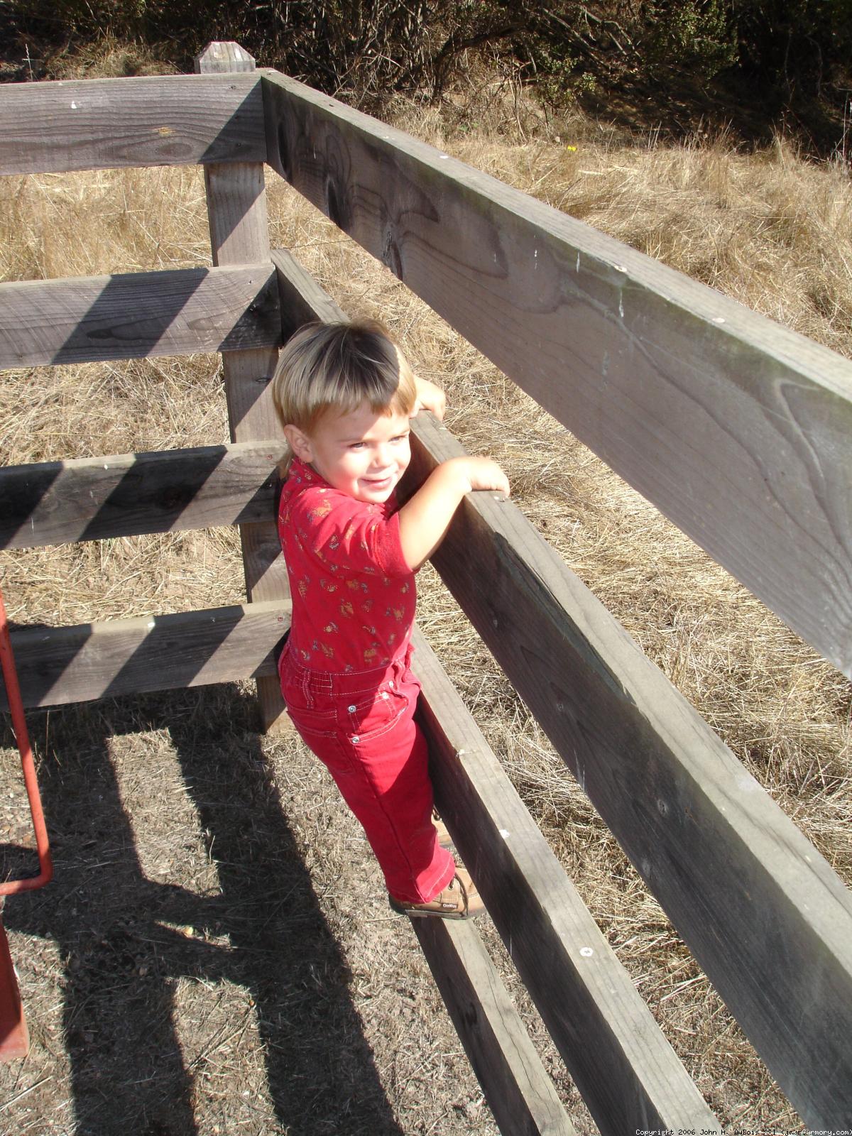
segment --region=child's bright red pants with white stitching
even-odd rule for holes
[[[453,877],[432,824],[426,740],[414,720],[420,684],[411,652],[390,667],[309,670],[287,648],[278,662],[287,712],[360,820],[391,895],[426,903]]]

